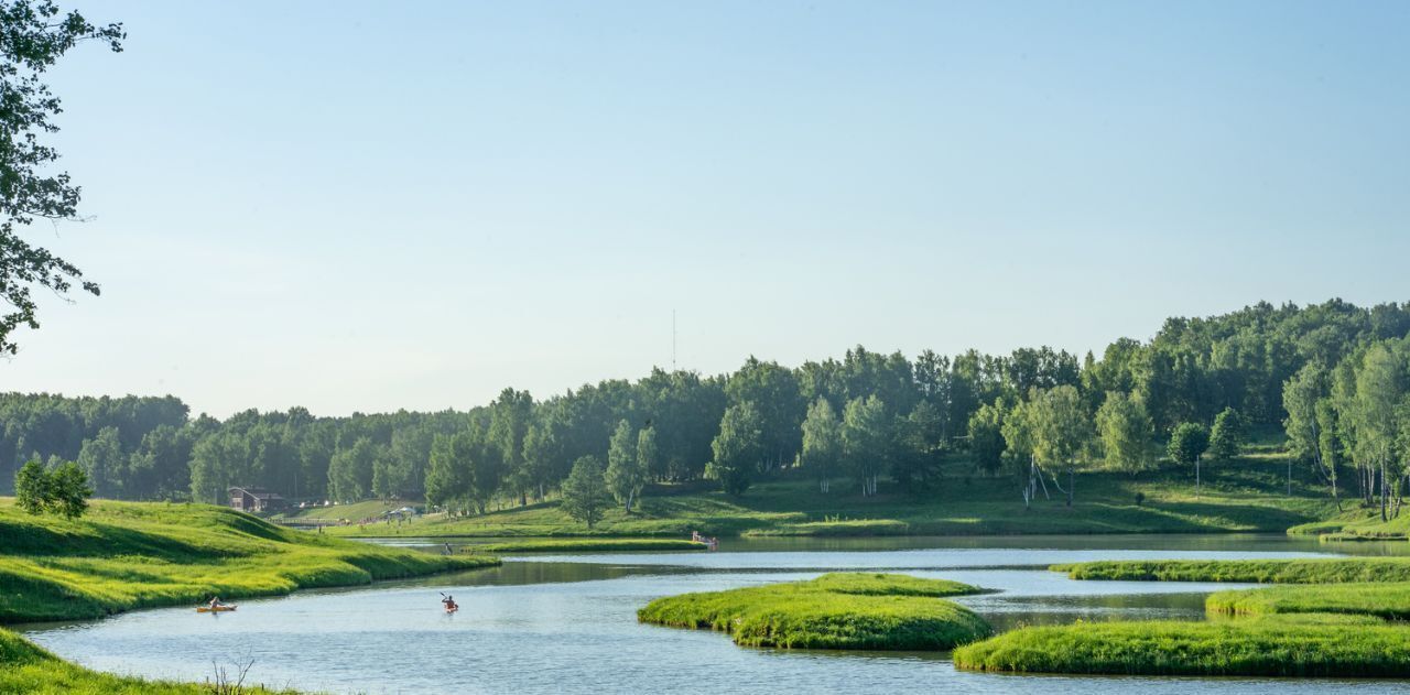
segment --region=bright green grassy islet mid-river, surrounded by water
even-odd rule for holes
[[[940,596],[981,589],[891,574],[828,574],[807,582],[684,593],[650,602],[644,623],[709,627],[736,644],[795,648],[945,650],[991,629]]]

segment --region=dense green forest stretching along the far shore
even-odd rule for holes
[[[230,485],[292,499],[426,498],[460,512],[543,499],[584,458],[625,505],[649,482],[743,493],[797,471],[819,493],[924,495],[940,464],[1014,475],[1015,499],[1081,468],[1197,465],[1245,427],[1282,427],[1328,493],[1396,505],[1410,462],[1410,303],[1258,303],[1169,319],[1149,341],[1084,357],[863,347],[797,368],[749,358],[728,375],[653,369],[534,400],[505,389],[468,412],[192,417],[165,398],[0,395],[6,484],[28,460],[76,461],[99,496],[221,502]],[[1208,427],[1213,426],[1213,430]],[[1203,434],[1201,434],[1203,431]],[[1203,440],[1201,440],[1203,437]],[[1231,450],[1232,447],[1232,450]],[[1206,451],[1207,450],[1207,451]],[[4,472],[0,468],[0,472]],[[845,488],[833,489],[833,482]]]

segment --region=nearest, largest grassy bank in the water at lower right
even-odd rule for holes
[[[1410,630],[1363,616],[1025,627],[955,650],[980,671],[1410,677]]]

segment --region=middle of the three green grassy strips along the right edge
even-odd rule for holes
[[[1221,591],[1204,601],[1213,615],[1344,613],[1410,619],[1410,584],[1287,585]]]

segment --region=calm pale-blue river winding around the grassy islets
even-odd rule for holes
[[[203,681],[213,660],[227,668],[252,660],[250,681],[320,692],[1410,692],[1390,681],[987,675],[956,671],[948,653],[742,648],[723,634],[636,622],[636,609],[657,596],[832,570],[902,571],[997,589],[957,601],[1000,630],[1077,619],[1200,620],[1204,595],[1231,585],[1077,582],[1043,567],[1352,553],[1410,554],[1410,544],[1283,536],[723,540],[716,553],[508,558],[501,568],[460,575],[244,601],[237,613],[219,616],[158,609],[21,630],[104,671]],[[441,612],[443,591],[460,613]]]

